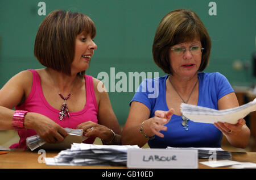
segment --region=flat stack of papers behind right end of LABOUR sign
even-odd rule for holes
[[[199,159],[216,158],[218,160],[232,160],[232,154],[222,148],[172,148],[167,149],[197,149]]]

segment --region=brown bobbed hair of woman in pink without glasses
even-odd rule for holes
[[[43,20],[36,34],[35,57],[47,68],[71,75],[76,37],[83,31],[92,38],[96,36],[96,27],[88,16],[79,12],[52,11]],[[84,74],[85,72],[79,73]]]

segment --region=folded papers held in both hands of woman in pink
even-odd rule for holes
[[[82,129],[71,129],[71,128],[64,128],[68,135],[62,142],[57,142],[55,144],[46,143],[43,139],[39,137],[39,135],[34,135],[27,137],[26,145],[31,150],[35,150],[36,148],[41,149],[53,149],[53,150],[63,150],[71,148],[72,143],[82,143],[87,137],[82,136],[83,130]]]

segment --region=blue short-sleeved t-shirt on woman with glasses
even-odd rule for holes
[[[224,95],[234,92],[228,79],[220,73],[198,73],[199,97],[197,106],[218,110],[218,100]],[[133,101],[145,104],[150,109],[150,117],[156,110],[168,111],[166,103],[167,76],[144,79],[138,87]],[[131,104],[130,102],[130,104]],[[148,140],[150,148],[171,147],[221,147],[222,132],[213,124],[195,123],[188,120],[188,130],[181,125],[181,116],[172,115],[166,124],[167,131],[160,131],[164,137],[155,136]]]

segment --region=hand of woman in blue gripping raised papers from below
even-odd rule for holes
[[[242,131],[242,126],[245,125],[245,120],[239,119],[237,124],[217,122],[214,123],[214,125],[220,129],[225,136],[230,136]]]

